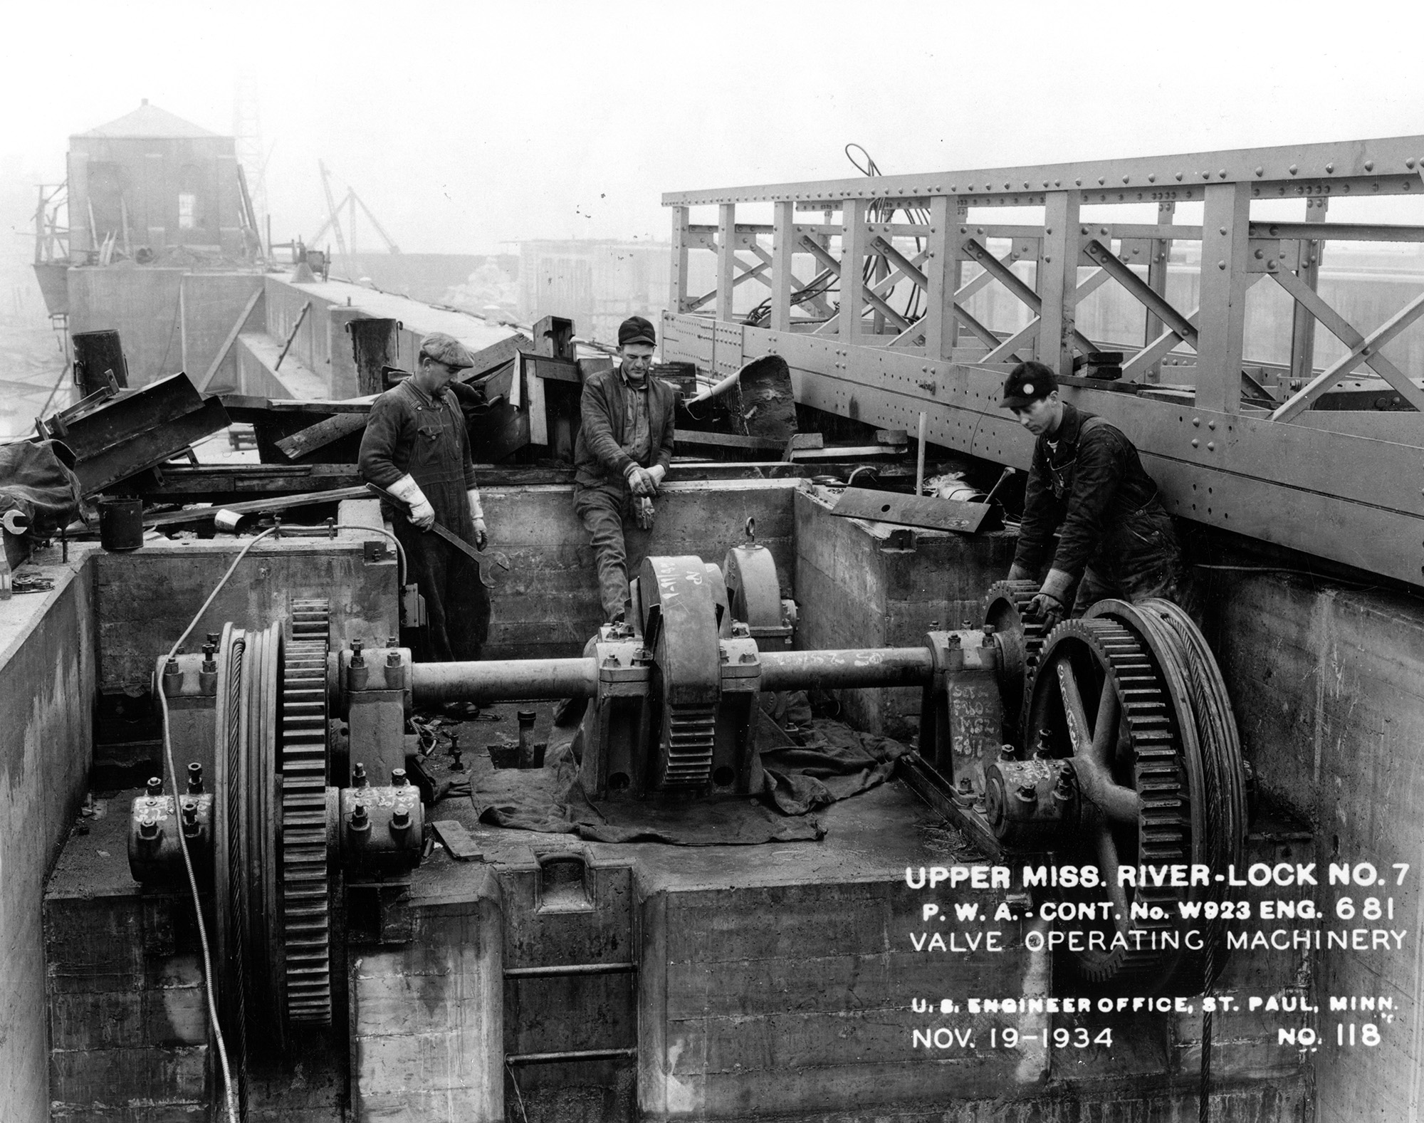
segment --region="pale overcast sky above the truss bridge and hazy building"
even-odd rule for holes
[[[403,249],[493,252],[664,239],[661,192],[853,175],[852,141],[911,172],[1424,134],[1401,0],[7,9],[0,157],[63,178],[145,97],[231,133],[245,73],[278,241],[322,221],[318,158]]]

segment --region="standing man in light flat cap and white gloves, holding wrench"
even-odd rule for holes
[[[474,480],[470,433],[449,389],[474,365],[453,335],[420,341],[414,373],[376,399],[360,442],[365,480],[397,500],[382,513],[406,550],[410,576],[426,600],[424,658],[476,660],[490,630],[490,597],[474,562],[429,533],[439,523],[483,550],[488,542]]]

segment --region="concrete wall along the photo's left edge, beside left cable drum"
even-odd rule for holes
[[[0,1119],[48,1117],[44,879],[88,780],[94,614],[84,556],[0,601]]]

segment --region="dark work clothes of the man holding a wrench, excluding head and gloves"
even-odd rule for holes
[[[360,442],[360,472],[380,487],[409,472],[434,507],[436,522],[474,544],[466,495],[476,486],[470,435],[449,390],[431,399],[407,379],[377,398]],[[387,500],[382,500],[382,514],[406,550],[407,580],[426,600],[427,641],[416,657],[480,658],[490,634],[490,594],[480,567],[437,534],[412,526]]]

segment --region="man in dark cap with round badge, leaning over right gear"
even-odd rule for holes
[[[1069,604],[1077,614],[1104,597],[1168,597],[1190,607],[1172,519],[1122,430],[1064,402],[1041,362],[1010,372],[1000,405],[1037,438],[1008,571],[1010,580],[1038,580],[1052,562],[1030,611],[1052,627]]]

